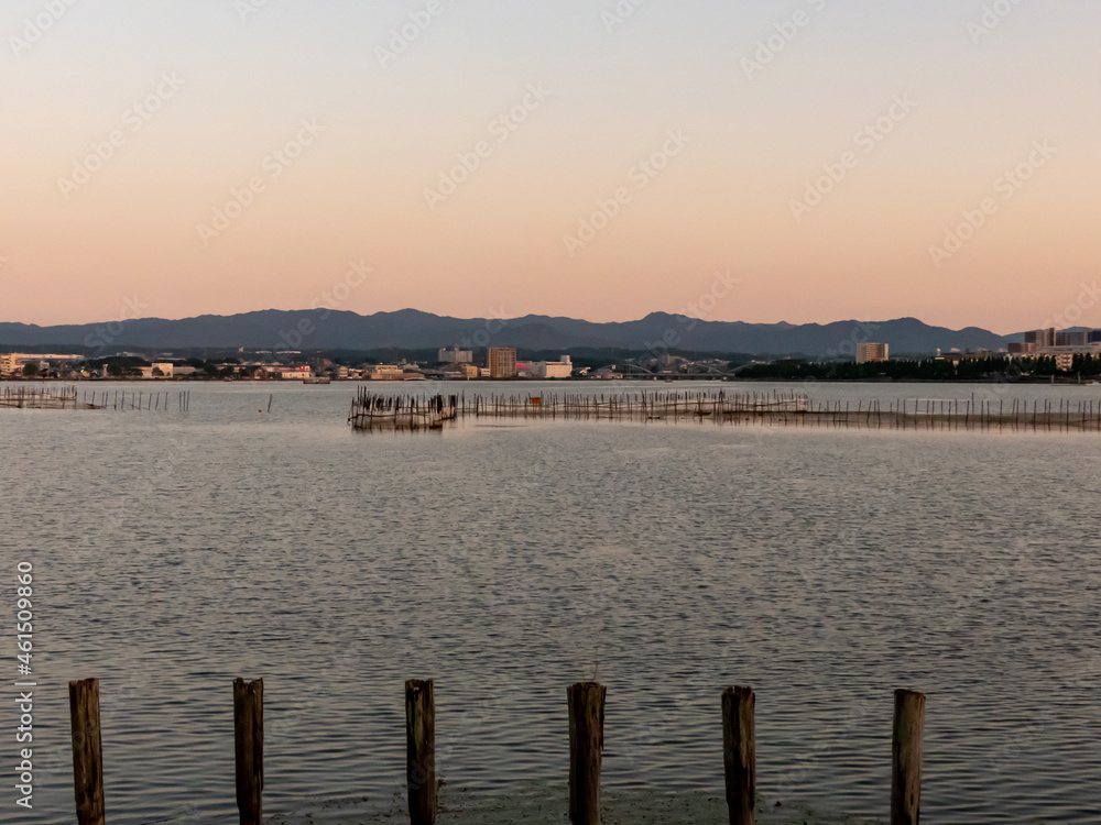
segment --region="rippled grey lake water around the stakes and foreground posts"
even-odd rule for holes
[[[655,385],[569,391],[628,387]],[[927,821],[1101,820],[1101,435],[508,420],[357,433],[353,384],[162,387],[182,388],[186,414],[0,410],[7,625],[15,564],[35,576],[29,822],[73,821],[66,685],[88,676],[111,822],[236,821],[239,675],[264,679],[273,821],[400,810],[403,682],[433,678],[453,810],[515,796],[538,803],[522,821],[563,822],[565,691],[595,671],[607,795],[658,800],[653,821],[722,822],[729,684],[756,691],[773,817],[885,821],[892,694],[909,688],[928,694]],[[972,392],[1101,403],[1097,386],[811,394]]]

